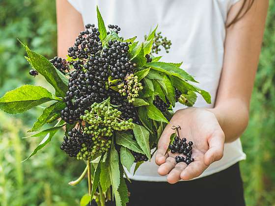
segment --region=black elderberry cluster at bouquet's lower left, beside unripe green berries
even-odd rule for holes
[[[60,149],[67,153],[70,157],[78,157],[78,159],[89,159],[90,150],[93,141],[90,135],[84,134],[81,130],[72,129],[64,135]]]

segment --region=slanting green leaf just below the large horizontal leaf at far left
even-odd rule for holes
[[[43,110],[43,113],[32,126],[32,128],[29,129],[27,132],[38,131],[39,129],[41,129],[43,125],[45,125],[56,113],[59,113],[60,110],[62,110],[65,106],[66,105],[64,102],[56,102],[53,103],[51,106],[45,108]]]

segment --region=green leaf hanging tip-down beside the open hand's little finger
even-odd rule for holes
[[[137,124],[135,124],[133,131],[138,142],[138,145],[149,158],[149,160],[151,160],[151,150],[149,146],[149,131],[143,126]]]

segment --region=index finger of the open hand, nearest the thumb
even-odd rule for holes
[[[206,168],[207,165],[205,165],[203,162],[194,161],[181,172],[180,177],[182,180],[191,180],[200,176]]]

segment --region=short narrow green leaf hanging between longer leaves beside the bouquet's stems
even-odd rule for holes
[[[101,162],[101,173],[100,173],[100,185],[103,192],[106,192],[111,185],[110,179],[110,153],[106,157],[106,161]]]

